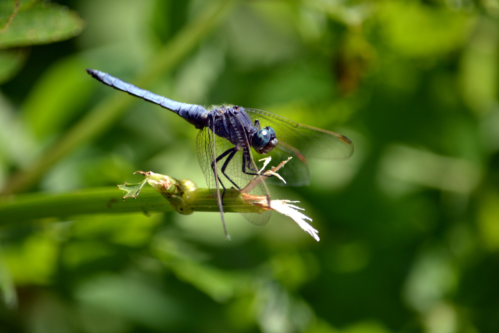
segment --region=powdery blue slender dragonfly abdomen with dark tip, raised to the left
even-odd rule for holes
[[[160,96],[150,92],[149,90],[139,88],[100,70],[87,68],[87,72],[104,84],[118,90],[128,92],[130,95],[143,98],[148,102],[160,105],[165,109],[177,113],[179,116],[196,126],[196,128],[204,127],[208,111],[201,105],[174,101],[168,97]]]

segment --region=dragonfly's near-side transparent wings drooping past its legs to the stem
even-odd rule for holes
[[[214,144],[215,141],[215,144]],[[196,150],[198,154],[199,165],[205,175],[208,188],[212,192],[214,198],[217,198],[217,188],[215,183],[215,173],[212,168],[212,163],[215,156],[221,156],[228,150],[234,149],[234,145],[224,138],[217,135],[214,136],[209,127],[203,128],[196,138]],[[243,173],[243,153],[236,151],[232,158],[231,153],[228,153],[224,158],[216,163],[216,172],[219,177],[219,187],[221,194],[224,190],[239,187],[244,188],[253,176]],[[222,168],[225,166],[225,172]],[[250,191],[251,195],[266,196],[268,191],[265,184],[262,182]],[[241,213],[252,224],[262,226],[267,223],[270,218],[270,211],[262,213]]]

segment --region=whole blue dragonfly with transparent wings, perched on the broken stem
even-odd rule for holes
[[[299,124],[271,112],[221,105],[208,111],[201,105],[174,101],[141,89],[131,83],[96,69],[86,69],[92,77],[118,90],[160,105],[177,113],[199,129],[196,152],[206,183],[213,194],[227,238],[223,196],[228,188],[242,190],[251,179],[261,175],[260,158],[266,155],[273,161],[285,161],[279,175],[265,176],[264,181],[248,191],[250,195],[270,198],[266,184],[302,186],[310,182],[308,159],[345,160],[353,154],[353,144],[346,136]],[[222,191],[222,194],[221,194]],[[262,226],[270,217],[270,210],[261,213],[242,213],[251,223]]]

